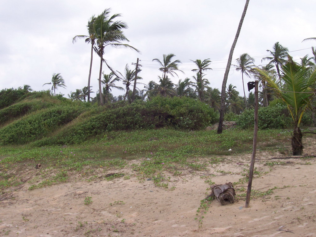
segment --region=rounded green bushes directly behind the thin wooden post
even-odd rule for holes
[[[254,125],[254,110],[245,110],[236,120],[240,128],[251,128]],[[258,109],[258,128],[273,129],[287,128],[292,125],[292,118],[285,105],[280,103],[275,106],[262,107]]]

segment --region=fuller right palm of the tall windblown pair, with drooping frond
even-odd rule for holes
[[[123,29],[127,28],[127,24],[123,21],[116,21],[115,18],[121,16],[120,14],[114,14],[109,16],[110,9],[105,9],[100,15],[98,15],[93,22],[93,33],[96,36],[96,44],[94,47],[97,54],[100,56],[100,71],[99,71],[99,93],[100,93],[100,105],[103,105],[102,100],[102,88],[101,88],[101,76],[102,76],[102,64],[106,63],[103,58],[104,48],[106,46],[112,46],[115,48],[131,48],[137,52],[136,48],[128,44],[123,44],[122,41],[129,40],[125,37]],[[117,73],[106,63],[107,67],[113,72],[115,76]],[[119,77],[119,76],[118,76]]]

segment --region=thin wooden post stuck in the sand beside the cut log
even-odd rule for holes
[[[248,181],[248,189],[247,189],[247,196],[246,196],[246,208],[249,207],[250,203],[250,194],[251,194],[251,186],[252,186],[252,176],[253,176],[253,168],[255,165],[256,159],[256,149],[257,149],[257,134],[258,134],[258,80],[255,80],[255,125],[253,131],[253,143],[252,143],[252,158],[250,163],[249,169],[249,181]]]

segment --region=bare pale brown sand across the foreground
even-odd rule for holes
[[[311,142],[304,153],[314,150],[315,142]],[[206,171],[167,174],[169,190],[155,186],[152,180],[140,181],[132,170],[124,171],[131,179],[72,181],[32,191],[26,183],[13,193],[14,198],[0,202],[0,236],[316,236],[315,158],[271,160],[282,155],[260,151],[256,157],[257,171],[267,173],[253,179],[252,188],[261,192],[280,189],[252,198],[250,208],[245,208],[242,198],[225,206],[214,200],[200,226],[195,217],[209,188],[203,176],[210,176],[216,184],[236,182],[243,177],[243,169],[248,169],[251,154],[225,156],[221,164],[209,164]],[[271,161],[284,163],[270,170],[264,164]],[[93,203],[84,205],[86,197]],[[279,230],[281,226],[294,234]]]

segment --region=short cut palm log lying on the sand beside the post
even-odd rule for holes
[[[227,184],[213,185],[211,188],[212,193],[205,199],[215,196],[222,205],[234,203],[236,193],[231,182]]]

